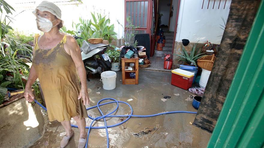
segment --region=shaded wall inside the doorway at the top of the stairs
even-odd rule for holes
[[[170,0],[159,0],[158,12],[163,14],[160,25],[169,25],[170,5],[167,4],[170,4]]]

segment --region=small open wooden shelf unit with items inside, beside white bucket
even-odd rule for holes
[[[122,58],[122,84],[138,84],[138,58]],[[125,71],[128,69],[129,63],[134,63],[135,66],[133,71]],[[136,74],[136,78],[131,78],[129,73],[134,72]]]

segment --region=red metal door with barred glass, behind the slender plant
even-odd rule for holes
[[[125,26],[126,18],[131,17],[132,23],[138,26],[139,34],[151,34],[152,24],[152,0],[125,0]]]

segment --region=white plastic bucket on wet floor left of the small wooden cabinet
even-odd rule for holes
[[[112,90],[116,88],[116,72],[104,71],[101,73],[100,81],[103,82],[103,88],[105,90]]]

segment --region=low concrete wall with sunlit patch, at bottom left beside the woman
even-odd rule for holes
[[[27,148],[42,137],[45,118],[40,106],[25,98],[0,108],[0,147]]]

